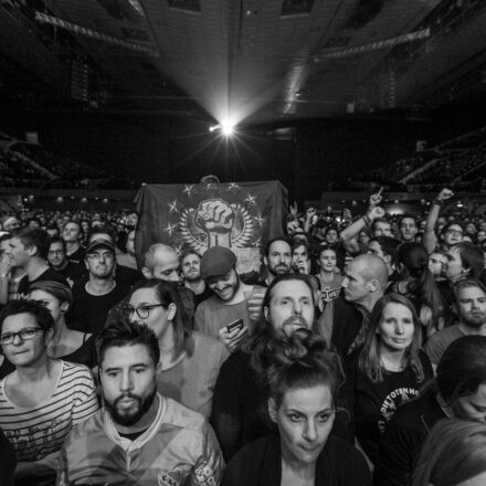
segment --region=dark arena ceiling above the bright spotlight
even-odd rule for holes
[[[0,0],[0,96],[241,124],[483,97],[485,0]]]

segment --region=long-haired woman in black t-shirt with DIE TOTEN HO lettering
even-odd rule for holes
[[[373,464],[385,423],[433,377],[421,345],[422,326],[412,303],[400,294],[381,297],[371,313],[364,345],[351,355],[346,373],[356,436]]]

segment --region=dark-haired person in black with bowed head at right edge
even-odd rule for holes
[[[485,336],[465,336],[452,342],[439,362],[435,380],[387,424],[376,486],[408,486],[426,436],[446,418],[486,421]]]

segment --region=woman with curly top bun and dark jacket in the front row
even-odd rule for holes
[[[361,454],[330,435],[344,373],[339,357],[308,329],[274,342],[267,412],[277,433],[244,446],[228,464],[222,486],[364,486]]]

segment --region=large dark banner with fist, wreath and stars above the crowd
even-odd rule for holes
[[[288,208],[287,190],[278,181],[144,184],[135,202],[139,265],[154,243],[201,255],[220,245],[237,255],[240,273],[258,271],[260,251],[284,234]]]

